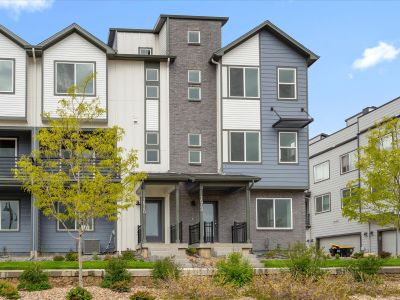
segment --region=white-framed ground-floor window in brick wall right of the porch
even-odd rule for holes
[[[257,199],[257,229],[292,229],[292,199]]]

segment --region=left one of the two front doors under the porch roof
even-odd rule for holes
[[[162,242],[162,201],[146,199],[146,239],[148,242]]]

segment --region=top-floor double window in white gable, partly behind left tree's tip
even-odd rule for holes
[[[56,94],[66,95],[68,89],[73,85],[81,85],[85,80],[95,73],[94,63],[56,63]],[[90,80],[85,90],[79,91],[84,95],[94,95],[94,80]]]

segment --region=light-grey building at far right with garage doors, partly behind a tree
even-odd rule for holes
[[[368,142],[368,130],[384,117],[400,115],[400,98],[380,107],[367,107],[346,119],[346,127],[310,139],[310,192],[307,242],[328,252],[332,244],[355,247],[355,251],[395,253],[395,231],[376,224],[360,224],[342,216],[342,198],[357,179],[356,151]]]

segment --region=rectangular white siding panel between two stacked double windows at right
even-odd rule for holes
[[[260,129],[259,100],[223,100],[222,129]]]

